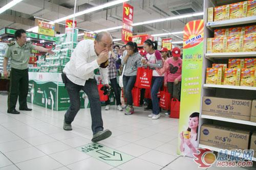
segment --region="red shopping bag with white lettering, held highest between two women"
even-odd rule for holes
[[[152,75],[153,75],[153,70],[150,69],[149,67],[147,68],[139,67],[134,86],[138,88],[150,89],[151,82],[152,82]]]

